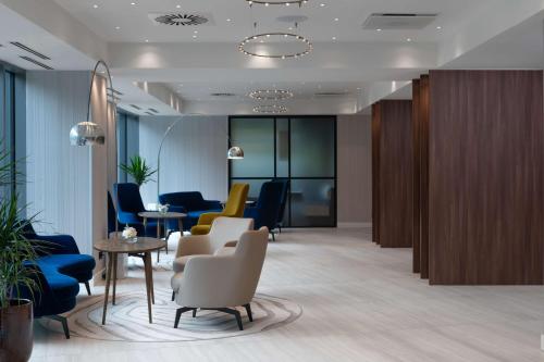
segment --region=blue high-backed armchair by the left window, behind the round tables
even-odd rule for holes
[[[138,232],[138,235],[157,236],[157,221],[148,220],[147,227],[144,230],[144,220],[138,216],[139,212],[146,211],[138,185],[129,183],[114,184],[113,194],[118,202],[120,228],[128,225],[134,227]]]

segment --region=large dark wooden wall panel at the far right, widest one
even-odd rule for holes
[[[542,284],[542,72],[435,71],[430,97],[430,283]]]

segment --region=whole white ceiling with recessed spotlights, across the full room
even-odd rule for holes
[[[213,24],[153,25],[148,16],[173,11],[205,13]],[[371,13],[383,12],[438,17],[420,30],[362,29]],[[312,53],[267,60],[237,50],[255,32],[286,30],[290,24],[276,20],[285,15],[308,17],[293,32],[313,42]],[[302,8],[252,9],[245,0],[0,0],[0,59],[36,68],[18,58],[13,40],[50,55],[55,70],[90,70],[106,59],[124,93],[121,107],[139,114],[149,108],[176,114],[180,104],[183,113],[251,113],[259,102],[246,96],[255,89],[293,91],[283,102],[292,114],[341,114],[391,93],[409,97],[401,88],[431,68],[542,67],[543,18],[542,0],[309,0]]]

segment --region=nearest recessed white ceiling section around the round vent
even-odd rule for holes
[[[491,7],[495,0],[309,0],[297,5],[254,5],[245,0],[54,0],[101,38],[112,42],[237,42],[255,33],[287,30],[293,24],[280,16],[307,16],[298,32],[311,40],[437,41],[457,28],[470,13]],[[131,5],[131,3],[135,5]],[[321,7],[321,4],[325,7]],[[98,8],[94,8],[94,5]],[[181,8],[176,8],[180,5]],[[211,25],[154,25],[150,13],[203,13]],[[422,30],[363,30],[362,23],[372,13],[437,13],[436,22]],[[337,18],[337,21],[336,21]],[[231,20],[230,22],[227,20]],[[254,28],[257,23],[257,28]],[[442,30],[436,27],[441,26]],[[118,29],[119,27],[119,29]],[[193,38],[198,30],[197,39]]]

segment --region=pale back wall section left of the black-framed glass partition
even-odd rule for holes
[[[157,152],[172,116],[141,116],[139,153],[154,168]],[[227,197],[226,116],[184,116],[169,134],[161,153],[160,192],[200,191],[206,199]],[[157,177],[156,177],[157,178]],[[157,183],[141,187],[144,203],[157,201]]]

